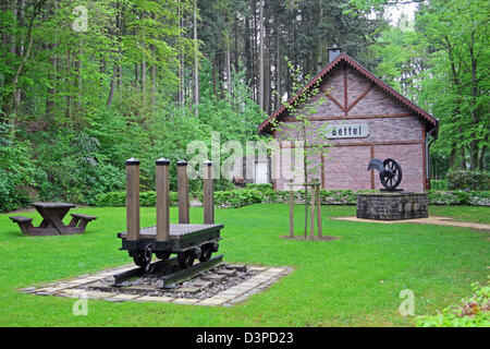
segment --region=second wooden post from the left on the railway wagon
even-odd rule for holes
[[[160,158],[157,164],[157,239],[170,240],[170,160]]]

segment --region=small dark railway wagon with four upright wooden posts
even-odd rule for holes
[[[177,165],[179,224],[170,224],[170,160],[156,161],[157,225],[139,227],[139,160],[126,160],[126,231],[118,233],[120,250],[127,251],[136,265],[146,268],[155,255],[168,260],[175,253],[181,268],[195,260],[209,261],[218,252],[223,225],[215,224],[212,163],[206,161],[204,173],[204,224],[189,224],[187,163]]]

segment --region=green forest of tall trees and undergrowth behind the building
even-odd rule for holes
[[[433,178],[488,171],[489,19],[483,0],[1,0],[0,210],[94,204],[128,157],[151,190],[156,158],[212,131],[257,140],[335,46],[440,119]]]

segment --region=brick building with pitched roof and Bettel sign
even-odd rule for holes
[[[318,83],[320,93],[311,99],[320,103],[309,118],[313,128],[328,123],[332,130],[328,136],[330,153],[316,159],[321,161],[321,171],[311,177],[319,179],[326,189],[380,189],[378,172],[368,172],[367,166],[372,158],[390,157],[403,169],[400,188],[427,190],[429,141],[438,136],[438,120],[339,49],[330,50],[330,63],[303,88],[313,88]],[[287,104],[297,98],[298,95],[293,96]],[[259,125],[261,133],[272,134],[281,144],[281,134],[273,130],[272,120],[289,123],[295,122],[295,118],[282,106]],[[279,159],[279,156],[273,164],[273,186],[285,190],[287,179],[278,173],[282,166],[291,164],[287,157]],[[295,178],[296,182],[303,180]]]

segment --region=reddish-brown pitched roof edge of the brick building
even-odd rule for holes
[[[429,129],[428,131],[431,131],[432,129],[436,129],[436,132],[439,129],[439,121],[434,117],[432,117],[430,113],[418,107],[416,104],[411,101],[408,98],[402,96],[400,93],[397,93],[395,89],[390,87],[387,83],[381,81],[379,77],[375,76],[370,71],[368,71],[366,68],[360,65],[358,62],[356,62],[353,58],[351,58],[346,53],[341,53],[339,57],[336,57],[333,61],[331,61],[321,72],[319,72],[317,75],[315,75],[314,79],[311,79],[296,95],[291,97],[286,105],[292,105],[301,95],[303,95],[304,92],[311,88],[318,81],[321,81],[329,72],[331,72],[335,67],[338,67],[341,62],[345,62],[353,69],[355,69],[358,73],[360,73],[363,76],[371,81],[376,86],[379,86],[381,89],[383,89],[387,94],[394,97],[396,100],[402,103],[405,107],[424,118],[428,124]],[[278,110],[275,110],[269,118],[267,118],[262,123],[259,124],[258,130],[259,132],[270,132],[270,122],[272,120],[275,120],[279,116],[281,116],[286,110],[285,105],[282,105]],[[437,133],[434,134],[437,136]]]

